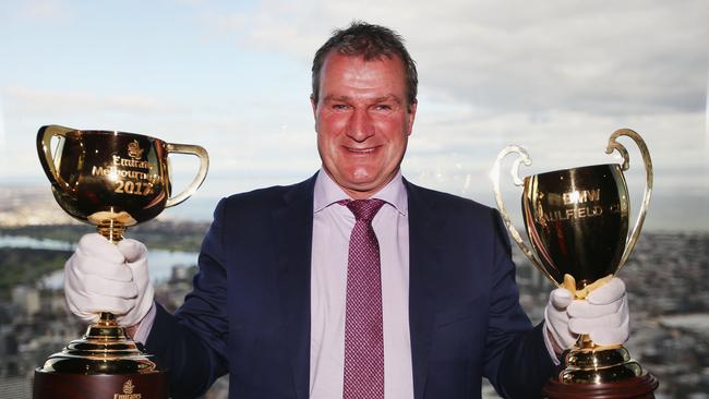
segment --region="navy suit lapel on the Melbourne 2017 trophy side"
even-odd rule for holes
[[[284,340],[291,363],[296,396],[307,399],[310,385],[310,265],[315,177],[284,195],[274,211],[278,253],[278,293]]]

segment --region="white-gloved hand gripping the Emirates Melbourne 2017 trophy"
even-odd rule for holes
[[[98,233],[82,237],[64,265],[64,295],[72,313],[87,322],[111,312],[122,326],[139,324],[153,306],[147,249],[130,239],[116,245]]]

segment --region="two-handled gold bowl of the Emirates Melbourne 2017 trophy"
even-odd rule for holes
[[[50,150],[51,140],[57,149]],[[121,230],[158,216],[202,184],[208,156],[196,145],[166,143],[142,134],[49,125],[37,134],[37,153],[59,205],[74,218]],[[170,196],[168,155],[200,157],[200,171]]]

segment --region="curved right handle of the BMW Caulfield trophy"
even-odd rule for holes
[[[650,152],[648,152],[648,147],[645,145],[645,141],[642,141],[642,137],[640,137],[640,135],[637,132],[630,129],[618,129],[615,132],[613,132],[613,134],[611,134],[611,137],[609,138],[608,147],[605,148],[605,154],[611,154],[613,153],[614,149],[621,153],[621,156],[623,156],[623,165],[621,166],[621,169],[628,170],[629,168],[628,152],[621,143],[615,141],[620,136],[628,136],[633,138],[635,144],[640,149],[640,155],[642,156],[642,161],[645,162],[645,194],[642,194],[642,204],[640,205],[640,211],[638,213],[638,218],[635,222],[635,226],[633,227],[633,232],[630,233],[629,238],[625,241],[625,251],[623,251],[623,256],[621,257],[621,263],[615,274],[621,271],[621,268],[625,265],[625,262],[630,256],[630,253],[633,252],[633,249],[635,247],[635,244],[638,241],[638,237],[640,235],[640,230],[642,230],[642,223],[645,222],[645,215],[647,214],[648,206],[650,205],[650,196],[652,195],[652,159],[650,158]]]

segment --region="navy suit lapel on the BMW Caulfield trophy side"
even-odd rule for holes
[[[413,394],[422,399],[425,391],[429,353],[435,315],[436,265],[440,241],[435,233],[440,219],[424,192],[404,181],[409,202],[409,328],[411,330],[411,362]]]

